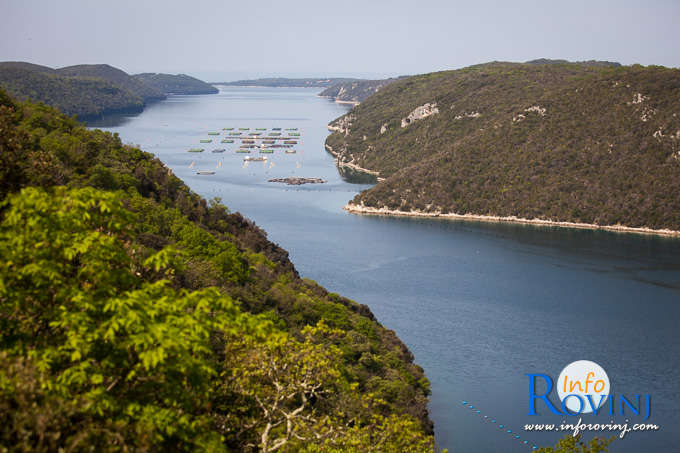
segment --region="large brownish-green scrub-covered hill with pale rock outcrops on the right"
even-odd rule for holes
[[[354,206],[680,230],[680,70],[490,63],[392,83],[329,125]]]

